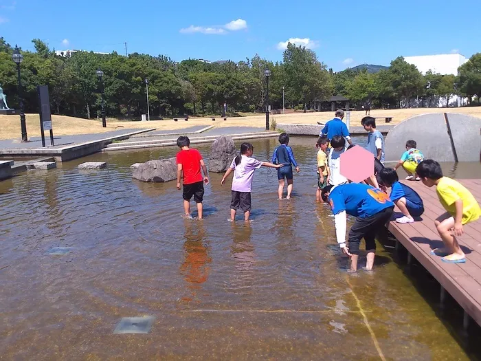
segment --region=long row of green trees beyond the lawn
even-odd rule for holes
[[[271,71],[269,99],[273,109],[312,109],[333,95],[346,96],[353,107],[370,102],[375,107],[436,107],[454,94],[470,103],[481,96],[481,53],[458,69],[457,76],[428,72],[423,76],[402,57],[377,73],[366,69],[333,72],[315,52],[289,44],[282,62],[256,55],[245,61],[206,63],[172,61],[168,56],[147,54],[94,54],[75,52],[56,55],[43,41],[34,39],[35,52],[23,51],[21,81],[25,111],[38,112],[37,85],[48,85],[52,112],[67,116],[100,116],[102,85],[96,70],[102,69],[107,116],[140,118],[146,113],[146,84],[151,118],[161,116],[219,114],[227,103],[229,113],[263,111],[265,69]],[[13,48],[0,37],[0,84],[10,107],[19,97]]]

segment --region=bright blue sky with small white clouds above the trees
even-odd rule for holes
[[[33,50],[164,54],[175,61],[282,60],[298,39],[335,71],[396,56],[481,52],[480,1],[0,0],[0,36]]]

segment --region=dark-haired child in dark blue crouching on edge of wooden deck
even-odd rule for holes
[[[379,173],[379,178],[381,178],[383,186],[391,188],[389,197],[403,213],[403,217],[396,218],[397,223],[412,223],[414,217],[421,217],[424,213],[423,199],[419,197],[416,190],[399,182],[399,177],[394,169],[384,168]]]

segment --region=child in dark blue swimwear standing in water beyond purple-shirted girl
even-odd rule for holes
[[[292,166],[295,166],[295,171],[299,173],[300,168],[298,162],[295,162],[294,154],[289,146],[289,134],[281,133],[279,135],[279,143],[274,153],[272,155],[273,164],[283,164],[282,167],[278,168],[277,176],[279,179],[278,196],[282,199],[282,194],[284,193],[284,178],[287,179],[287,197],[286,199],[291,199],[291,193],[293,189],[293,171]]]

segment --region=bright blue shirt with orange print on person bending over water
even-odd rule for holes
[[[361,183],[342,184],[329,194],[333,213],[346,211],[348,215],[367,218],[385,208],[394,207],[388,195],[382,190]]]

